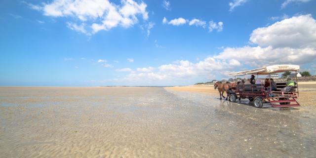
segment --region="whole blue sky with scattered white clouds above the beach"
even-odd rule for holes
[[[276,64],[316,75],[316,0],[1,0],[0,86],[169,86]]]

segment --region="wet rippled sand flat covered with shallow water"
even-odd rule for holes
[[[161,87],[1,87],[0,156],[309,158],[316,117]]]

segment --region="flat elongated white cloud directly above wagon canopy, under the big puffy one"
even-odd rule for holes
[[[215,56],[216,59],[235,59],[248,66],[261,67],[274,64],[305,64],[316,58],[315,48],[273,48],[244,46],[238,48],[225,48]]]

